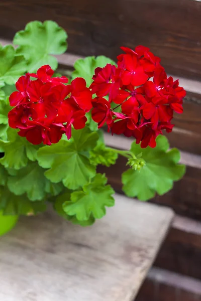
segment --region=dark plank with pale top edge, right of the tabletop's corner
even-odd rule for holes
[[[154,264],[201,280],[201,223],[176,216]]]

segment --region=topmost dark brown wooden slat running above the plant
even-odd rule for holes
[[[69,51],[115,58],[119,46],[146,45],[167,72],[201,79],[201,3],[192,0],[2,0],[0,35],[13,38],[33,20],[52,19]]]

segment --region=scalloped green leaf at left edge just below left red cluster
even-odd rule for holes
[[[0,163],[6,168],[21,169],[31,161],[36,160],[39,145],[33,145],[25,137],[20,137],[16,129],[8,128],[8,141],[0,140],[0,147],[5,156]]]

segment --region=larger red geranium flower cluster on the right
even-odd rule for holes
[[[186,92],[178,86],[178,80],[167,78],[160,59],[149,48],[121,49],[125,54],[117,57],[118,67],[107,64],[95,69],[90,86],[97,96],[92,100],[92,119],[98,127],[107,123],[112,133],[134,136],[143,148],[155,147],[163,129],[172,131],[173,111],[182,113]],[[114,103],[117,106],[112,108]],[[115,110],[120,106],[118,113]]]

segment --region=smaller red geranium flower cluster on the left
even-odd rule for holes
[[[18,91],[10,96],[9,125],[19,128],[18,134],[33,144],[57,143],[63,133],[71,137],[71,126],[85,126],[85,113],[92,108],[91,91],[83,78],[70,85],[66,77],[52,77],[49,65],[37,74],[21,76],[16,83]],[[31,80],[31,77],[35,78]]]

